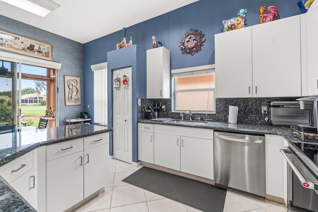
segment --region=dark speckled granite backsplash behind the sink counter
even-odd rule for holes
[[[201,117],[201,120],[207,118],[212,122],[228,122],[229,106],[234,105],[239,107],[238,124],[254,124],[268,125],[264,119],[269,118],[269,114],[261,113],[261,106],[269,106],[271,101],[296,101],[299,97],[267,97],[267,98],[220,98],[216,99],[215,114],[193,113],[194,118]],[[138,105],[138,119],[147,119],[146,107],[158,101],[161,105],[165,105],[165,110],[160,109],[158,112],[159,118],[181,119],[179,112],[172,112],[171,99],[140,99]],[[189,115],[184,114],[184,119],[189,119]]]

